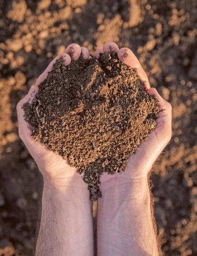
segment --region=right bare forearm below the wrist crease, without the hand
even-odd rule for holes
[[[147,180],[117,183],[98,201],[98,256],[159,255]]]

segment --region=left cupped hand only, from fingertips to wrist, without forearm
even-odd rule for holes
[[[84,183],[84,181],[82,180],[81,176],[77,174],[77,169],[70,167],[60,155],[56,155],[55,153],[46,150],[45,146],[41,145],[39,141],[35,142],[34,138],[31,137],[31,131],[28,129],[29,124],[24,120],[24,111],[22,109],[22,105],[27,101],[30,103],[32,102],[36,93],[38,92],[39,84],[47,77],[48,72],[52,70],[53,64],[58,58],[63,57],[65,64],[69,65],[71,61],[70,55],[72,56],[72,59],[77,60],[81,52],[85,59],[89,58],[89,51],[85,47],[80,47],[77,44],[69,45],[64,53],[59,54],[50,63],[50,65],[48,65],[45,71],[38,77],[36,84],[31,87],[28,94],[17,104],[18,131],[20,138],[27,146],[30,154],[36,161],[38,168],[43,175],[43,178],[51,178],[53,182],[58,184],[62,182],[64,183],[64,181],[67,182],[68,178],[75,178],[80,183]]]

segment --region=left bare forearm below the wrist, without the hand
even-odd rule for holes
[[[92,205],[86,186],[57,186],[44,180],[36,256],[93,255]]]

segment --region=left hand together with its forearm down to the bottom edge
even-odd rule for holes
[[[60,155],[47,151],[40,142],[35,142],[24,120],[22,105],[32,102],[38,92],[38,85],[52,70],[56,59],[63,57],[69,65],[71,58],[80,54],[89,57],[86,48],[69,45],[39,76],[29,93],[18,102],[19,136],[27,146],[43,175],[42,214],[36,244],[36,255],[93,255],[92,202],[89,200],[87,184]],[[70,55],[69,55],[70,54]],[[85,239],[84,239],[85,238]]]

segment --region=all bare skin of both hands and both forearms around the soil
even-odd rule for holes
[[[137,70],[146,91],[155,95],[160,105],[157,126],[149,139],[140,144],[129,158],[127,171],[101,177],[102,198],[97,208],[98,255],[158,255],[147,176],[151,167],[171,138],[171,106],[150,87],[149,80],[137,57],[128,48],[119,49],[107,42],[100,53],[115,51],[127,66]],[[42,216],[36,245],[36,255],[93,255],[92,204],[87,184],[77,169],[70,167],[61,156],[47,151],[35,142],[24,121],[23,103],[33,100],[38,85],[52,70],[56,59],[63,57],[65,65],[89,51],[77,44],[69,45],[38,77],[28,94],[17,104],[19,135],[36,161],[43,176]],[[110,254],[112,253],[112,254]]]

